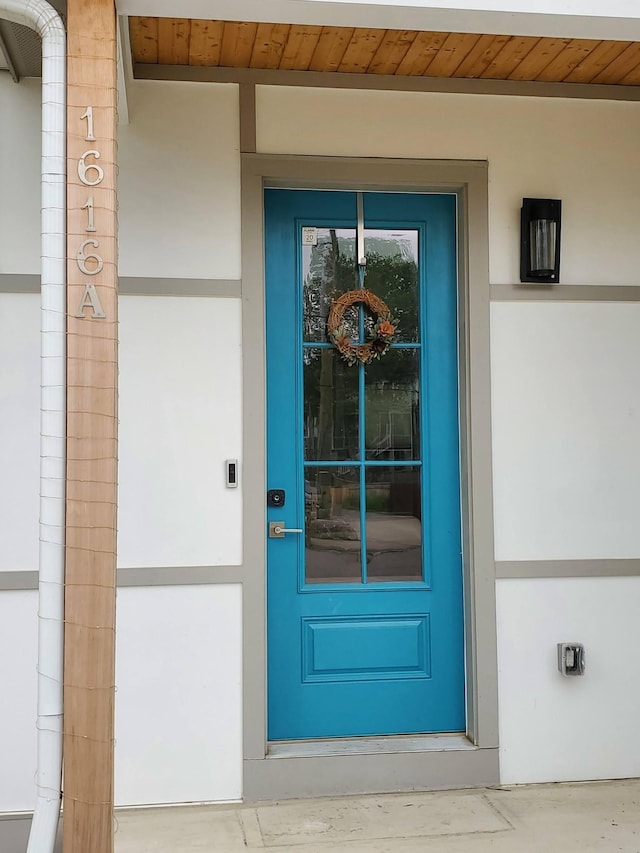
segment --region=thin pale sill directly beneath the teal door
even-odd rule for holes
[[[462,733],[393,735],[387,737],[332,738],[326,740],[272,741],[267,758],[311,758],[326,755],[380,755],[402,752],[476,750]]]

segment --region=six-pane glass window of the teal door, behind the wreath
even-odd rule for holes
[[[420,231],[366,229],[359,267],[354,229],[299,227],[304,581],[420,582]],[[332,300],[357,287],[381,296],[398,326],[388,352],[367,365],[348,365],[326,338]],[[354,342],[366,342],[374,322],[361,305],[345,312]]]

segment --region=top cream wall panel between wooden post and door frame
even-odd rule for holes
[[[119,274],[239,279],[238,87],[138,80],[128,97]]]

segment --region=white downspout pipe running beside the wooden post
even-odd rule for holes
[[[28,853],[52,853],[62,785],[66,483],[66,37],[44,0],[0,0],[42,37],[40,552],[37,800]]]

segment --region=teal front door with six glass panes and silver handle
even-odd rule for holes
[[[269,740],[463,731],[456,199],[272,189],[265,233]]]

